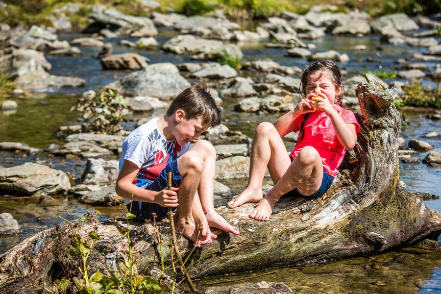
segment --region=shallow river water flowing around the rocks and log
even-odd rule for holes
[[[161,44],[176,33],[171,30],[160,30],[157,37]],[[60,40],[71,40],[83,36],[79,33],[59,35]],[[129,39],[130,40],[130,39]],[[150,64],[158,62],[193,62],[189,55],[176,55],[161,50],[127,49],[112,40],[114,53],[134,51],[150,59]],[[133,41],[133,40],[132,40]],[[404,58],[423,48],[407,46],[392,46],[381,44],[378,36],[363,38],[327,36],[313,41],[319,51],[337,50],[347,53],[350,61],[340,64],[341,69],[352,74],[363,74],[367,70],[393,71],[398,58]],[[355,45],[368,46],[366,51],[353,51]],[[304,68],[308,61],[285,56],[285,49],[267,49],[263,44],[242,45],[245,60],[270,58],[281,65]],[[63,144],[56,138],[55,133],[60,125],[76,123],[77,113],[70,112],[76,99],[86,90],[98,90],[105,84],[122,77],[128,72],[102,71],[99,60],[93,58],[97,48],[81,48],[81,54],[75,57],[46,56],[52,64],[52,74],[69,75],[84,78],[87,84],[84,88],[65,88],[45,93],[34,93],[28,98],[16,99],[18,110],[0,112],[0,142],[23,142],[31,147],[46,148],[50,144]],[[369,58],[373,61],[366,61]],[[427,63],[430,67],[433,63]],[[386,80],[388,81],[388,80]],[[344,80],[343,80],[344,83]],[[424,84],[429,84],[423,80]],[[278,115],[240,114],[233,111],[236,98],[224,99],[223,123],[231,130],[239,130],[252,136],[254,127],[263,121],[274,121]],[[160,115],[163,111],[144,114],[145,116]],[[406,124],[402,126],[401,136],[406,139],[420,139],[431,131],[440,131],[441,122],[426,118],[426,112],[408,110],[402,111]],[[127,129],[133,128],[134,119],[124,124]],[[440,139],[423,139],[434,145],[435,150],[441,150]],[[421,160],[427,155],[417,155]],[[84,170],[85,160],[49,158],[47,153],[36,156],[24,156],[20,153],[0,151],[0,165],[10,167],[24,162],[41,162],[55,169],[68,172],[74,182]],[[413,192],[427,192],[441,195],[441,170],[429,168],[424,164],[410,165],[400,163],[400,177]],[[233,195],[244,189],[245,181],[226,183],[232,188]],[[433,210],[441,211],[441,199],[428,200],[426,205]],[[69,219],[78,218],[85,211],[98,209],[102,218],[113,216],[114,209],[110,207],[93,207],[80,203],[71,197],[57,197],[51,203],[39,203],[34,197],[0,197],[0,212],[8,212],[20,223],[23,232],[13,236],[0,236],[0,253],[7,251],[26,237],[35,232],[55,226],[62,222],[59,216]],[[117,208],[117,214],[125,208]],[[69,212],[69,213],[68,213]],[[439,240],[441,241],[441,240]],[[308,267],[292,267],[285,269],[263,270],[253,273],[242,273],[235,276],[216,277],[199,281],[202,286],[232,285],[239,282],[283,282],[290,286],[294,293],[441,293],[441,253],[429,252],[417,248],[403,248],[376,256],[357,257],[342,261],[330,262],[326,265]]]

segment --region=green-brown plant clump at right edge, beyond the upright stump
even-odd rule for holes
[[[403,90],[405,94],[402,102],[398,105],[441,108],[441,89],[439,87],[433,90],[425,89],[417,79],[413,79],[412,84],[406,84]]]

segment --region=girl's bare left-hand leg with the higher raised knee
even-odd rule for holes
[[[272,123],[260,123],[254,132],[251,147],[248,185],[235,199],[228,202],[229,208],[241,206],[246,202],[262,200],[262,182],[267,170],[276,184],[290,166],[285,144]]]

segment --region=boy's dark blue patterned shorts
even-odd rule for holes
[[[177,168],[177,160],[171,160],[167,162],[166,167],[162,170],[159,176],[155,180],[148,179],[136,179],[136,186],[150,190],[150,191],[161,191],[167,188],[168,184],[168,174],[172,172],[172,187],[179,187],[182,182],[182,175]],[[130,209],[131,205],[131,209]],[[152,213],[156,213],[156,221],[161,221],[167,217],[169,211],[168,207],[161,206],[156,203],[132,201],[127,204],[127,210],[133,213],[137,221],[150,220],[153,221]],[[173,208],[173,211],[175,208]]]

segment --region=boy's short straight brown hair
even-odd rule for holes
[[[186,120],[202,119],[204,125],[211,127],[221,124],[221,110],[210,92],[199,84],[194,84],[176,96],[167,110],[167,116],[172,116],[178,109],[184,110]]]

